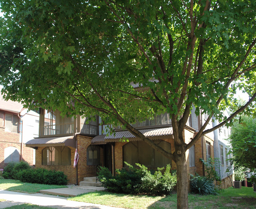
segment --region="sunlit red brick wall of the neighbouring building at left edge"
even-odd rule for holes
[[[4,149],[14,146],[20,153],[20,134],[14,132],[6,132],[4,127],[4,112],[0,112],[0,168],[4,168],[7,163],[4,163]],[[33,165],[33,149],[22,146],[22,160],[27,161],[30,165]]]

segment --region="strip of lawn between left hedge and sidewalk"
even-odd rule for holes
[[[38,183],[23,183],[13,179],[0,179],[0,189],[12,191],[12,192],[23,192],[28,194],[38,193],[41,189],[57,189],[66,186],[60,185],[46,185]]]

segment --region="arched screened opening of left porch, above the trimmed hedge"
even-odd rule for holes
[[[42,150],[42,165],[71,165],[71,150],[67,146],[50,146]]]

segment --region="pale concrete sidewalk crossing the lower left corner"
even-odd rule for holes
[[[69,188],[64,188],[69,189]],[[85,193],[85,192],[83,192]],[[53,196],[48,194],[26,194],[20,192],[9,192],[0,190],[0,199],[7,201],[0,202],[0,208],[11,207],[13,205],[19,205],[22,203],[32,203],[34,205],[40,205],[52,208],[86,208],[86,209],[114,209],[105,205],[98,205],[93,203],[76,202],[67,200],[66,197]]]

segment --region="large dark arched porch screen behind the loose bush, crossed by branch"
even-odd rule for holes
[[[167,152],[171,152],[171,144],[162,140],[154,141]],[[139,163],[147,167],[165,167],[171,165],[171,159],[164,157],[159,152],[151,148],[144,141],[129,142],[123,146],[123,161],[131,165]],[[126,164],[123,165],[126,167]]]

